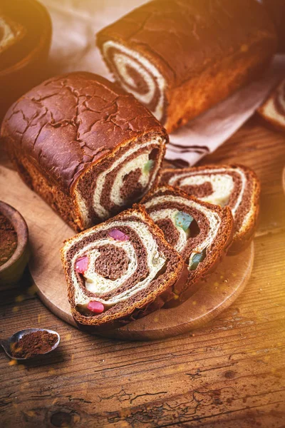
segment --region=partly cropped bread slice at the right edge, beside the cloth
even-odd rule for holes
[[[285,131],[285,78],[259,107],[258,113],[271,125]]]

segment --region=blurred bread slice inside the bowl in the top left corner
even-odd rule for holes
[[[25,34],[24,26],[0,13],[0,58],[4,51],[23,39]]]

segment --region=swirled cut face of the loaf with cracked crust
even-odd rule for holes
[[[144,138],[138,145],[121,148],[95,170],[78,180],[78,203],[91,225],[133,205],[155,183],[162,163],[161,137]]]

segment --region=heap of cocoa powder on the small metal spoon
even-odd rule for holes
[[[58,336],[47,331],[38,330],[21,337],[18,342],[11,345],[11,355],[15,358],[31,358],[51,351]]]

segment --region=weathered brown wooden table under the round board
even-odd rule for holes
[[[46,327],[61,345],[26,365],[1,352],[1,427],[285,427],[285,136],[252,118],[209,162],[244,163],[262,183],[254,270],[241,297],[192,334],[120,342],[58,320],[27,273],[0,294],[1,337]]]

